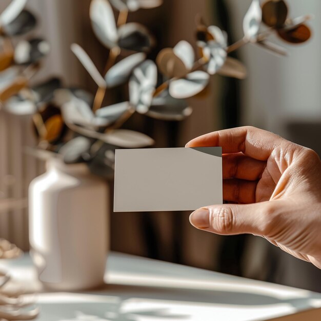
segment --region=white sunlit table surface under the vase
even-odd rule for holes
[[[321,320],[320,293],[120,253],[107,262],[106,285],[82,293],[42,289],[29,255],[0,268],[8,287],[37,292],[41,321]]]

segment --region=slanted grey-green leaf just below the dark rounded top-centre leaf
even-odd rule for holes
[[[124,58],[119,63],[111,67],[105,75],[107,87],[111,88],[125,83],[132,70],[141,64],[145,58],[145,53],[138,52]]]

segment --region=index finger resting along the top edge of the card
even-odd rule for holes
[[[251,126],[225,129],[192,139],[186,147],[222,147],[223,154],[242,152],[259,160],[267,160],[275,146],[284,139],[269,131]]]

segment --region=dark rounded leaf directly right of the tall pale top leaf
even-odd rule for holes
[[[128,23],[118,28],[118,46],[121,48],[147,52],[154,43],[154,37],[141,24]]]

